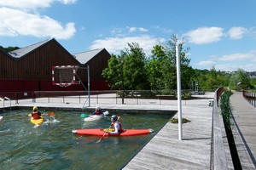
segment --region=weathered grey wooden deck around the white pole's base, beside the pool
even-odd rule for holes
[[[210,169],[212,107],[209,99],[183,105],[183,140],[178,125],[168,122],[123,169]],[[177,117],[177,115],[175,116]]]

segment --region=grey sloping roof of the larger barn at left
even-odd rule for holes
[[[30,46],[27,46],[27,47],[25,47],[25,48],[16,49],[16,50],[14,50],[14,51],[9,52],[9,54],[10,54],[13,58],[19,59],[19,58],[22,57],[23,55],[32,52],[34,49],[36,49],[36,48],[42,46],[44,43],[49,42],[50,40],[52,40],[52,39],[44,40],[43,42],[34,43],[34,44],[32,44],[32,45],[30,45]]]

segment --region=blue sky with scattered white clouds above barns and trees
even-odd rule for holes
[[[0,0],[0,46],[55,38],[71,54],[137,42],[147,57],[172,35],[194,69],[256,71],[255,0]]]

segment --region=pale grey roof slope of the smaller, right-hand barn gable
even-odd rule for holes
[[[77,59],[81,64],[87,63],[90,59],[99,54],[104,48],[97,48],[90,51],[84,51],[78,54],[73,54],[73,57]]]

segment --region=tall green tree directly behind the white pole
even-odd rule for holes
[[[166,45],[156,45],[153,47],[152,56],[148,59],[148,75],[152,89],[171,90],[177,88],[176,69],[176,44],[177,37],[172,35]],[[183,48],[183,44],[178,46],[181,61],[182,88],[189,88],[189,81],[192,67],[189,66],[190,59],[186,56],[189,48]]]

